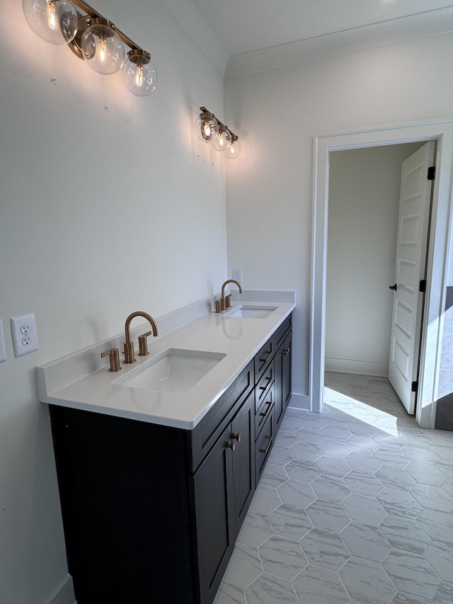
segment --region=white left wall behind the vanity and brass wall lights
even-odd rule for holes
[[[219,291],[224,160],[193,124],[224,99],[159,2],[96,0],[151,52],[147,98],[42,42],[21,5],[4,0],[0,21],[0,602],[47,604],[67,565],[35,366],[120,333],[134,310],[160,317]],[[29,312],[40,349],[14,358],[9,319]]]

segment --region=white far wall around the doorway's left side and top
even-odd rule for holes
[[[227,166],[229,266],[297,291],[293,392],[308,394],[313,137],[452,115],[453,34],[227,79],[243,135]]]

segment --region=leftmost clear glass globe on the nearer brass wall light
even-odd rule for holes
[[[79,27],[79,15],[69,0],[23,0],[28,25],[42,40],[68,44]]]

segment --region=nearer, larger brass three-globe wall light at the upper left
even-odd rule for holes
[[[99,74],[122,69],[127,90],[137,96],[147,96],[156,88],[156,67],[149,52],[84,0],[23,0],[22,6],[28,25],[42,40],[67,44]],[[125,45],[130,47],[127,57]]]

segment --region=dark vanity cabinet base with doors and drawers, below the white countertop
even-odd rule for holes
[[[192,430],[50,405],[79,604],[211,604],[291,395],[291,316]]]

